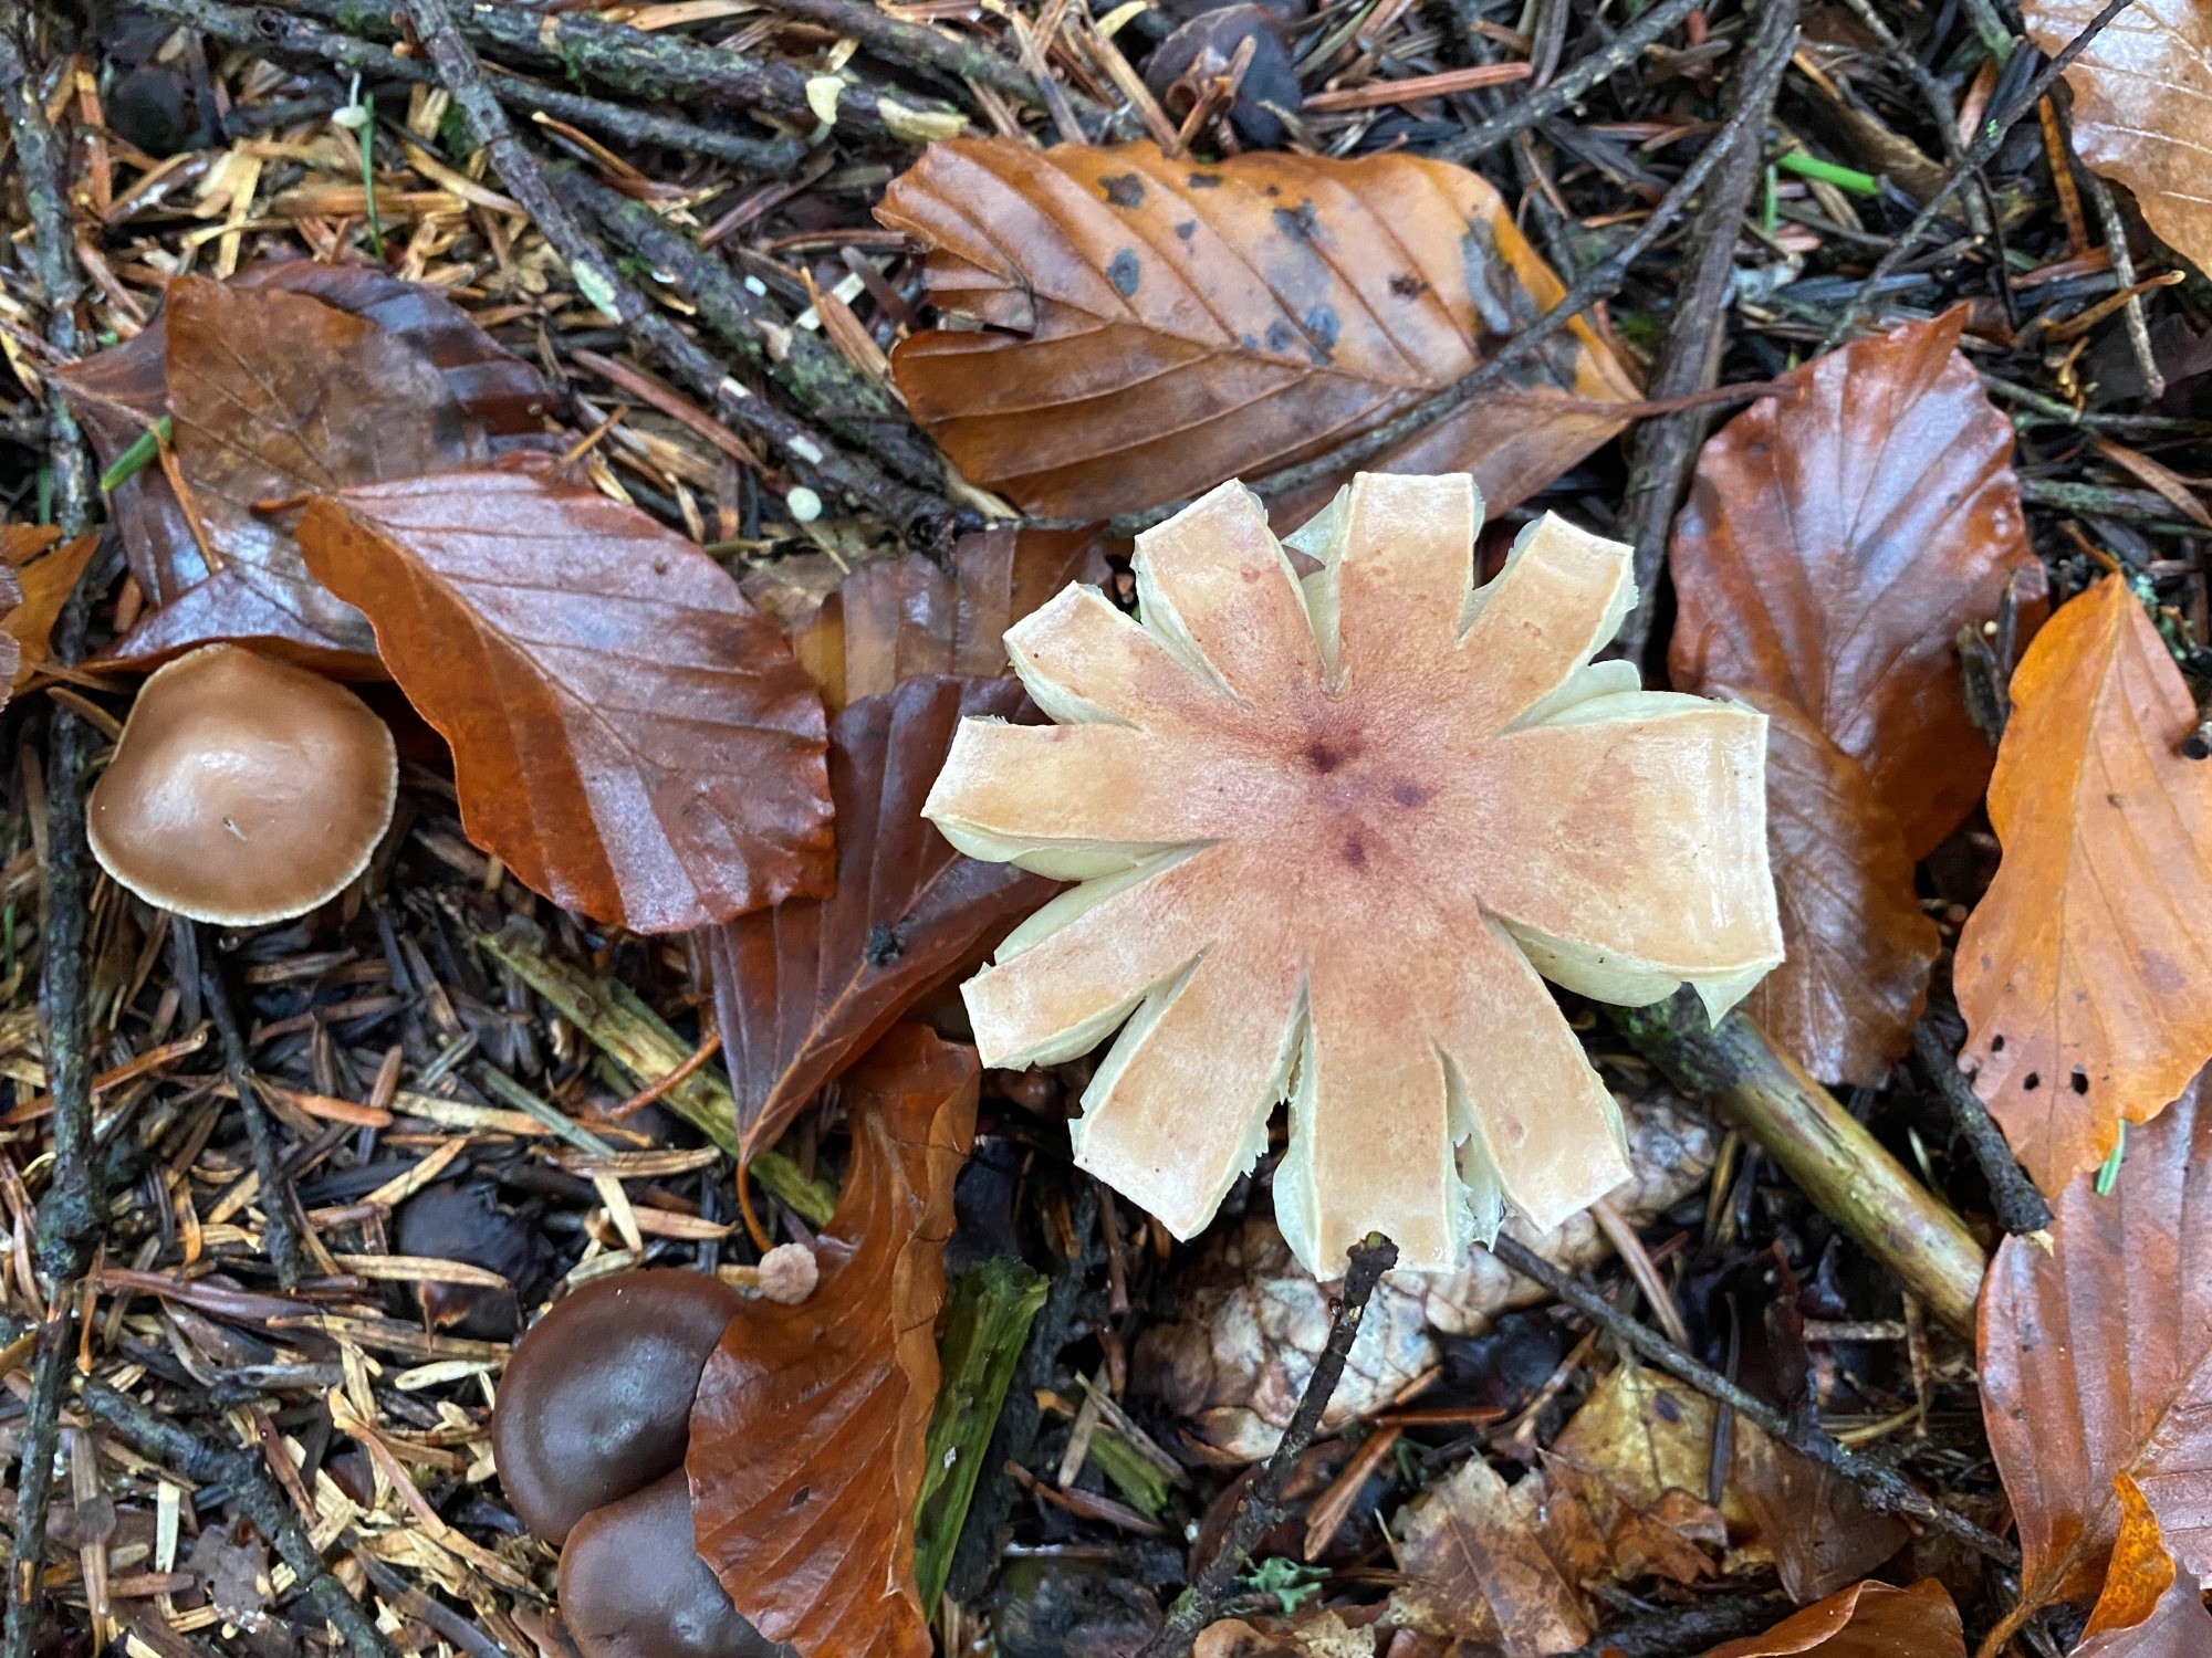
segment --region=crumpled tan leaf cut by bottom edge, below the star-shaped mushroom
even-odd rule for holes
[[[1553,1523],[1542,1472],[1506,1486],[1480,1457],[1407,1503],[1391,1528],[1405,1581],[1391,1620],[1429,1636],[1493,1640],[1551,1658],[1590,1638],[1590,1612]]]

